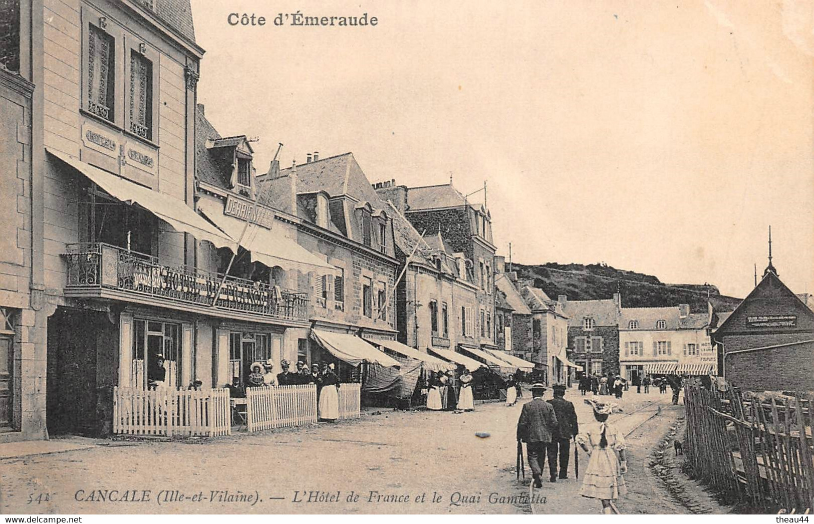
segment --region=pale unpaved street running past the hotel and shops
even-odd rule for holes
[[[546,392],[546,398],[551,392]],[[2,513],[531,513],[515,480],[513,407],[474,413],[367,409],[359,421],[219,439],[99,441],[95,448],[0,461]],[[592,421],[578,391],[580,421]],[[610,398],[610,397],[606,397]],[[670,395],[627,391],[610,418],[628,437],[623,513],[689,513],[646,469],[683,415]],[[660,414],[659,406],[661,407]],[[479,438],[476,432],[490,436]],[[580,469],[589,457],[580,452]],[[571,464],[573,464],[573,452]],[[536,513],[599,513],[569,478],[544,483]]]

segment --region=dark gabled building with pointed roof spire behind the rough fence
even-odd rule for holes
[[[750,391],[814,390],[814,312],[769,264],[713,335],[719,375]]]

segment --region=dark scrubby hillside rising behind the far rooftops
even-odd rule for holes
[[[551,299],[568,295],[569,300],[610,299],[622,293],[624,308],[675,306],[689,303],[693,312],[707,311],[709,301],[718,312],[732,311],[741,299],[721,295],[712,285],[665,284],[658,277],[615,269],[604,264],[512,264],[523,285],[539,287]]]

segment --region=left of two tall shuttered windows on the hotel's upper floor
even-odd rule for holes
[[[87,68],[86,109],[99,118],[115,121],[116,39],[94,24],[88,27]]]

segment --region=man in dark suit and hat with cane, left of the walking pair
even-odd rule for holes
[[[543,487],[542,475],[545,466],[545,451],[551,442],[551,436],[557,428],[557,415],[551,404],[543,400],[545,386],[540,383],[532,385],[532,401],[523,404],[523,411],[517,422],[518,442],[526,443],[528,465],[532,468],[535,487]],[[557,465],[549,463],[552,476]]]

